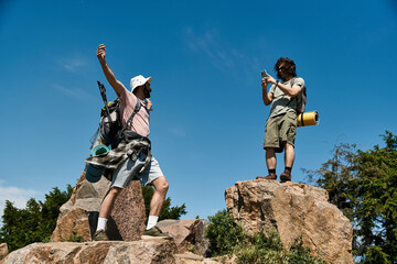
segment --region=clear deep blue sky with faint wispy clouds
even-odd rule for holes
[[[293,182],[335,144],[397,133],[397,3],[364,1],[0,1],[0,210],[77,182],[106,82],[152,76],[150,139],[183,219],[224,209],[224,191],[266,175],[260,72],[292,58],[320,124],[299,128]],[[278,155],[278,174],[283,157]]]

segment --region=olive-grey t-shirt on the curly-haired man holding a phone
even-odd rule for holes
[[[282,81],[281,84],[291,87],[291,80]],[[294,78],[293,85],[298,85],[301,88],[304,87],[304,80],[300,77]],[[297,112],[297,100],[292,99],[290,96],[287,96],[283,94],[283,91],[276,87],[276,85],[272,85],[270,87],[269,94],[273,94],[273,99],[271,102],[271,109],[270,109],[270,118],[283,114],[286,112]],[[291,101],[291,102],[290,102]]]

